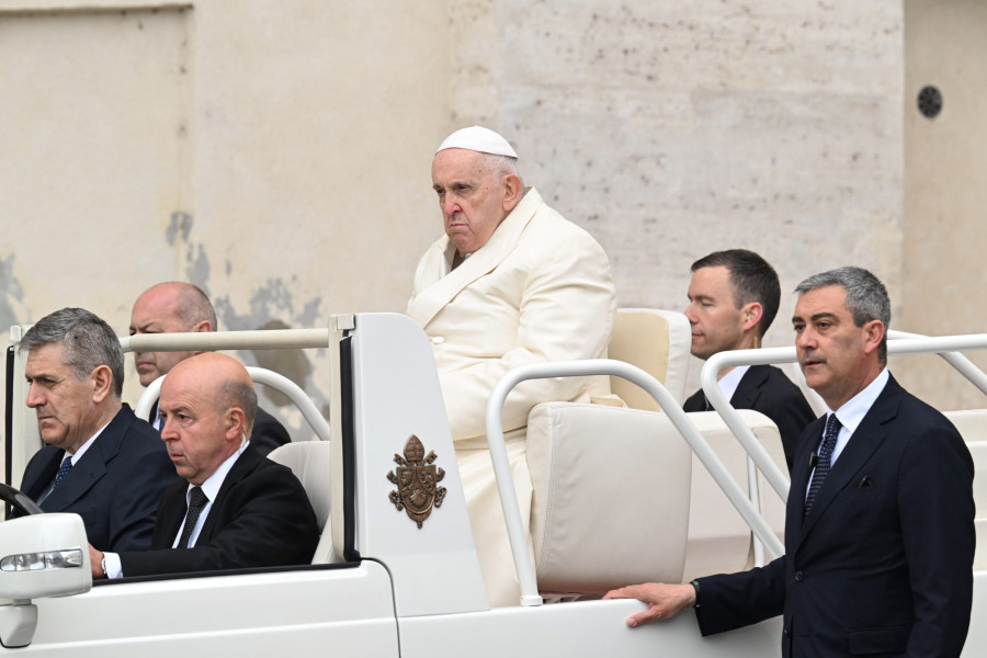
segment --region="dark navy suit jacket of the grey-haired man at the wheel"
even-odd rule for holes
[[[61,449],[41,449],[24,469],[24,494],[36,500],[64,457]],[[82,517],[89,542],[100,551],[145,551],[161,491],[178,479],[161,436],[123,405],[41,507]]]

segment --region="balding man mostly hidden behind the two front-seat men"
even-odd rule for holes
[[[209,298],[191,283],[172,281],[146,290],[131,313],[131,336],[135,333],[179,333],[216,330],[216,310]],[[134,352],[134,365],[141,386],[147,386],[181,361],[198,352]],[[158,405],[151,407],[148,421],[160,429]],[[261,455],[292,441],[276,418],[258,407],[253,443]]]

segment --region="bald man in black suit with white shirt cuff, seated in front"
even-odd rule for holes
[[[185,481],[158,507],[151,551],[90,548],[94,578],[308,564],[319,527],[290,468],[248,442],[257,394],[223,354],[175,365],[161,387],[161,439]]]

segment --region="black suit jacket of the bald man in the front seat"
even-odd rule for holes
[[[161,496],[151,551],[121,553],[124,576],[309,564],[319,542],[315,512],[292,470],[252,444],[237,458],[192,548],[172,548],[185,518],[185,480]]]

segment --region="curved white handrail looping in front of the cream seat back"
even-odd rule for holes
[[[700,431],[689,420],[682,407],[676,402],[672,395],[658,379],[637,366],[614,361],[611,359],[590,359],[585,361],[569,361],[559,363],[532,363],[522,365],[508,372],[494,387],[487,400],[487,445],[490,450],[490,460],[494,464],[494,474],[497,477],[497,488],[500,494],[500,504],[503,509],[507,522],[508,537],[511,543],[511,552],[514,556],[514,568],[518,570],[518,581],[521,585],[521,605],[541,605],[542,597],[538,595],[537,581],[534,565],[527,552],[527,540],[524,535],[524,525],[521,522],[521,509],[518,504],[518,495],[514,492],[514,479],[508,461],[507,446],[503,441],[503,423],[501,412],[508,394],[521,382],[526,379],[545,379],[552,377],[582,377],[591,375],[611,375],[623,377],[644,390],[657,401],[679,433],[689,443],[689,446],[699,457],[703,466],[713,476],[724,494],[769,549],[776,556],[784,554],[784,545],[774,535],[768,522],[747,499],[747,495],[730,476],[726,466]]]

